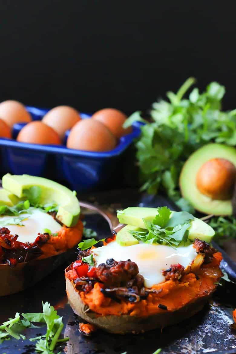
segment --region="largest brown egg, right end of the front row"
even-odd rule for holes
[[[71,129],[67,139],[70,149],[87,151],[109,151],[116,146],[116,138],[98,120],[82,119]]]

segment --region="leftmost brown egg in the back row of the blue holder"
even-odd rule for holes
[[[12,128],[15,123],[31,122],[32,120],[25,106],[11,99],[0,103],[0,117],[10,128]]]

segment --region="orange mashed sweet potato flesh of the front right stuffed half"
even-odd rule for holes
[[[105,297],[100,291],[103,284],[99,282],[95,283],[94,288],[87,294],[76,289],[75,291],[79,292],[84,304],[97,313],[98,316],[129,314],[142,317],[166,311],[172,312],[201,297],[211,295],[222,275],[219,268],[221,259],[220,252],[214,253],[212,262],[203,264],[198,270],[197,276],[194,273],[189,273],[182,276],[180,280],[167,280],[154,285],[153,289],[162,289],[162,291],[158,294],[150,293],[147,299],[138,303],[129,301],[118,303],[111,298]],[[167,310],[159,308],[159,304],[165,305]]]

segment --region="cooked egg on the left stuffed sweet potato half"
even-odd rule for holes
[[[14,216],[0,217],[1,227],[6,227],[10,230],[11,235],[19,235],[17,241],[21,242],[34,242],[38,233],[44,233],[44,229],[51,230],[51,233],[56,233],[61,229],[61,225],[47,213],[42,212],[40,209],[30,209],[31,213],[22,213],[19,216],[25,217],[20,225],[2,225],[2,221],[12,219]],[[17,218],[18,216],[16,216]]]

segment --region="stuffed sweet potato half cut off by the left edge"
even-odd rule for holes
[[[51,273],[74,251],[83,232],[79,202],[68,188],[27,175],[5,175],[2,184],[0,296]]]

